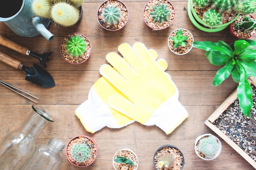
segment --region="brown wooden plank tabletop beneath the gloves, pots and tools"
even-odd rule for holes
[[[175,0],[171,1],[175,8],[173,24],[168,29],[152,31],[142,17],[147,0],[139,2],[124,0],[129,11],[128,23],[119,31],[106,31],[97,21],[97,9],[101,2],[85,0],[83,17],[72,27],[64,28],[52,24],[49,31],[55,37],[51,42],[42,36],[20,37],[3,22],[0,23],[0,35],[37,53],[53,52],[46,68],[56,83],[53,88],[36,86],[25,80],[26,74],[23,71],[0,62],[0,79],[40,98],[38,106],[47,110],[55,119],[40,134],[36,140],[36,147],[47,143],[51,137],[57,137],[67,144],[72,137],[89,135],[97,143],[98,155],[91,166],[83,169],[112,170],[112,157],[115,152],[122,148],[130,148],[139,158],[138,170],[153,170],[155,150],[160,146],[171,144],[183,152],[184,170],[253,170],[254,168],[222,139],[222,151],[216,159],[204,161],[195,154],[194,141],[198,135],[204,133],[216,135],[204,125],[204,121],[236,89],[238,84],[229,77],[220,86],[213,86],[211,84],[213,77],[221,67],[209,64],[203,50],[193,48],[189,54],[178,56],[174,55],[167,45],[168,35],[178,28],[190,30],[196,41],[224,40],[232,43],[236,38],[231,37],[229,30],[225,29],[217,33],[200,31],[188,18],[187,0]],[[256,16],[255,13],[254,16]],[[60,55],[61,40],[72,32],[83,33],[92,44],[91,56],[83,64],[69,64]],[[252,40],[256,40],[256,36]],[[101,77],[99,68],[107,63],[106,54],[112,51],[117,52],[119,44],[124,42],[130,45],[142,42],[148,49],[155,49],[158,58],[164,58],[168,62],[166,72],[171,74],[180,93],[179,100],[189,113],[189,117],[170,135],[166,135],[157,126],[144,126],[137,122],[121,129],[105,127],[91,134],[83,128],[74,114],[74,110],[87,100],[91,86]],[[0,46],[0,51],[20,60],[26,66],[38,64],[38,60],[34,57],[21,55],[4,46]],[[34,103],[4,86],[0,86],[0,92],[0,139],[2,139],[7,132],[21,125],[27,115],[32,112],[31,105]],[[79,168],[72,166],[63,151],[63,162],[59,170],[75,169]]]

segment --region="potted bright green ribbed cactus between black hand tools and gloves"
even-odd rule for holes
[[[61,41],[61,56],[70,64],[81,64],[90,57],[92,46],[85,35],[70,33]]]

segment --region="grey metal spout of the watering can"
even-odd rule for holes
[[[52,41],[52,39],[54,38],[54,35],[45,28],[45,26],[42,24],[39,17],[32,18],[31,24],[34,25],[38,33],[40,33],[48,41]]]

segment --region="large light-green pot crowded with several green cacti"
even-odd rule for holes
[[[221,31],[238,18],[239,13],[254,13],[255,0],[189,0],[188,14],[191,22],[206,32]]]

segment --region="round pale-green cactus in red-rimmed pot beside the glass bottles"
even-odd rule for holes
[[[83,163],[90,157],[90,148],[87,144],[74,144],[71,157],[77,163]]]

